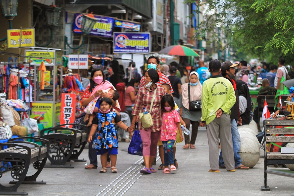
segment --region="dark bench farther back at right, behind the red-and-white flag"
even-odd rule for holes
[[[286,100],[288,98],[288,95],[281,95],[281,99],[282,100]],[[260,117],[262,115],[262,111],[263,111],[263,106],[264,106],[264,102],[266,99],[266,103],[268,104],[268,110],[270,111],[270,113],[275,112],[275,105],[276,105],[276,101],[275,101],[275,95],[259,95],[257,97],[257,103],[258,103],[258,130],[260,130]],[[254,109],[254,108],[253,108]]]

